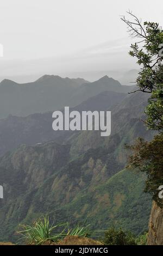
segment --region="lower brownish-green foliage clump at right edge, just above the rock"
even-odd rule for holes
[[[129,167],[138,168],[147,173],[145,191],[153,195],[155,202],[162,208],[158,188],[163,184],[163,133],[155,136],[151,142],[138,138],[135,145],[129,147],[133,155],[129,157]]]

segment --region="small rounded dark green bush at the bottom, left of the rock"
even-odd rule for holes
[[[136,245],[134,235],[129,232],[124,232],[122,228],[116,230],[111,227],[105,232],[104,245]]]

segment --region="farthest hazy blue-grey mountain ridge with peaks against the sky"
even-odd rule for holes
[[[70,79],[45,75],[35,82],[18,84],[11,80],[0,83],[0,119],[9,114],[24,117],[34,113],[55,111],[64,106],[74,107],[104,91],[130,92],[133,87],[108,76],[89,83],[82,78]]]

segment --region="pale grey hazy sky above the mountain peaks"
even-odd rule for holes
[[[162,25],[161,0],[0,0],[1,78],[137,68],[120,15]]]

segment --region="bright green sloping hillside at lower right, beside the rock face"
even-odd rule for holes
[[[71,203],[54,212],[55,218],[64,221],[66,212],[71,222],[74,218],[79,223],[86,220],[92,230],[105,230],[114,224],[142,234],[148,228],[152,206],[151,196],[143,192],[145,178],[142,173],[122,170],[92,191],[82,190]]]

